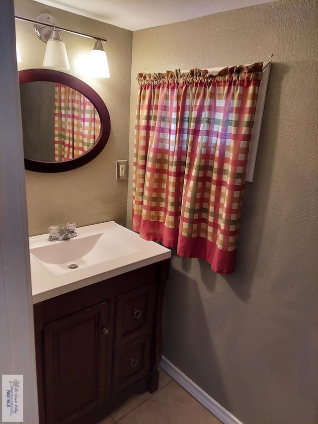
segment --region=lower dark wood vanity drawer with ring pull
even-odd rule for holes
[[[145,377],[150,369],[152,335],[119,347],[115,351],[112,395],[115,396]]]

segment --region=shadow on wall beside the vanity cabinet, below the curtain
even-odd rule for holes
[[[174,258],[179,260],[172,257],[172,262]],[[226,407],[227,394],[201,299],[198,282],[172,266],[164,294],[162,354],[190,379],[200,382],[207,393],[211,384],[217,387],[216,400]]]

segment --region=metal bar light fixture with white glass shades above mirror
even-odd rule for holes
[[[62,41],[61,37],[61,31],[66,31],[71,34],[96,40],[90,52],[90,75],[99,78],[109,78],[107,56],[102,46],[102,42],[107,41],[105,38],[61,27],[55,17],[50,13],[42,13],[36,20],[20,15],[15,15],[15,19],[34,23],[37,36],[43,42],[47,43],[43,60],[44,68],[59,70],[70,69],[65,43]]]

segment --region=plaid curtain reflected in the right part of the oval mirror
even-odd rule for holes
[[[100,131],[99,115],[79,91],[55,85],[54,146],[55,161],[73,159],[89,150]]]

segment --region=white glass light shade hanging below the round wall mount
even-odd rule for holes
[[[52,36],[47,42],[43,68],[54,68],[61,71],[70,69],[65,43],[62,41],[59,30],[53,30]]]

